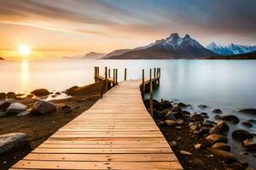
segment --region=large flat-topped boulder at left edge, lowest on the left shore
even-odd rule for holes
[[[27,144],[26,134],[24,133],[6,133],[0,135],[0,155]]]

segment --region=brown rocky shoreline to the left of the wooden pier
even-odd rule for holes
[[[38,147],[60,127],[88,110],[99,99],[96,87],[73,87],[79,92],[68,99],[45,101],[63,93],[37,89],[31,94],[0,93],[0,169],[9,169],[16,161]],[[87,93],[90,91],[90,93]]]

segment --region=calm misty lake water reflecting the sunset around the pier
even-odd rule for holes
[[[124,79],[124,68],[127,68],[128,79],[137,79],[142,78],[142,69],[148,77],[150,68],[160,67],[160,88],[154,92],[154,99],[182,101],[192,105],[189,111],[205,111],[212,120],[215,115],[211,110],[219,108],[224,112],[222,115],[232,114],[240,118],[236,125],[229,123],[230,132],[241,128],[255,133],[256,124],[247,128],[241,122],[256,120],[256,116],[236,110],[256,108],[256,60],[0,61],[0,92],[22,94],[36,88],[57,92],[74,85],[83,86],[94,81],[94,66],[100,66],[101,73],[104,66],[119,69],[119,81]],[[197,107],[199,104],[208,105],[208,108],[201,110]],[[233,140],[229,143],[233,152],[241,152],[240,143]],[[252,155],[241,157],[256,167]]]

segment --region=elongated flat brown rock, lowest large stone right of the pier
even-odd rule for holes
[[[227,163],[237,161],[237,157],[229,151],[216,150],[214,148],[207,148],[207,150],[211,151],[213,155],[218,156],[219,158],[223,159]]]

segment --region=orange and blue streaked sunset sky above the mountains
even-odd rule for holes
[[[172,32],[188,33],[203,45],[254,44],[256,5],[229,1],[1,0],[0,56],[20,59],[20,44],[32,48],[29,59],[109,53]]]

